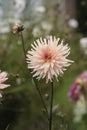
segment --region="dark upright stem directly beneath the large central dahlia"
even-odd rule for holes
[[[52,130],[52,108],[53,108],[53,81],[51,82],[51,95],[50,95],[50,117],[49,117],[49,130]]]

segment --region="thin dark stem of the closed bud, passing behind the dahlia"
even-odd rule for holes
[[[25,56],[25,63],[26,63],[26,50],[25,50],[25,44],[24,44],[24,38],[23,38],[22,32],[20,33],[20,36],[21,36],[21,40],[22,40],[22,47],[23,47],[23,52],[24,52],[24,56]],[[42,105],[43,105],[45,111],[48,113],[47,107],[46,107],[45,102],[44,102],[44,100],[43,100],[43,97],[42,97],[42,94],[41,94],[41,92],[40,92],[40,89],[39,89],[39,87],[38,87],[38,85],[37,85],[37,83],[36,83],[36,80],[35,80],[35,78],[34,78],[33,76],[32,76],[32,78],[33,78],[34,84],[35,84],[35,86],[36,86],[37,92],[38,92],[38,94],[39,94],[39,96],[40,96]]]

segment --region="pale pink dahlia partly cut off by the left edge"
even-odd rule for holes
[[[7,80],[7,73],[6,72],[0,72],[0,89],[7,88],[8,84],[4,84],[4,82]]]

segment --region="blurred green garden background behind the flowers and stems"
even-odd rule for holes
[[[34,40],[48,35],[69,44],[69,58],[75,62],[54,82],[53,130],[87,130],[86,115],[73,122],[76,103],[68,98],[75,77],[87,69],[87,50],[80,46],[80,39],[87,35],[86,0],[18,1],[0,1],[0,70],[8,72],[7,83],[11,84],[2,91],[0,130],[48,130],[46,113],[25,64],[21,37],[12,33],[17,22],[25,28],[26,52]],[[44,82],[37,81],[49,110],[50,84]]]

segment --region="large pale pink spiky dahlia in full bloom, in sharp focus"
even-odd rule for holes
[[[70,54],[68,45],[63,45],[60,38],[37,39],[31,44],[31,50],[27,53],[28,68],[32,69],[33,77],[46,78],[46,82],[53,77],[63,74],[73,61],[67,59]]]

